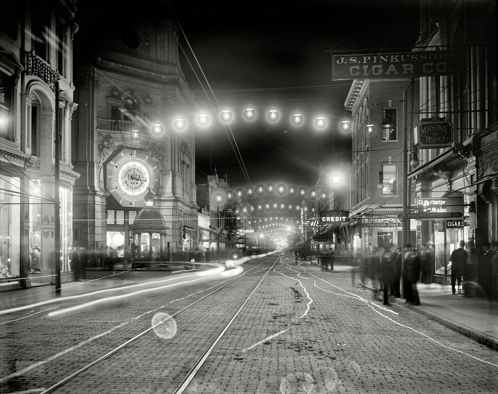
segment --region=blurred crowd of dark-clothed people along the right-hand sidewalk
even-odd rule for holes
[[[474,268],[465,246],[465,242],[460,241],[459,247],[453,250],[449,258],[448,271],[451,275],[452,293],[463,293],[466,296],[472,293],[478,297],[496,300],[498,242],[483,243],[483,252],[478,258],[477,269]],[[374,287],[383,292],[384,304],[389,303],[389,296],[401,297],[400,284],[402,284],[402,298],[408,304],[420,305],[417,282],[422,280],[424,283],[430,283],[433,258],[430,248],[426,255],[422,255],[416,248],[406,244],[403,249],[397,247],[395,251],[390,247],[373,250],[368,256],[360,257],[359,265],[362,279],[370,278]]]

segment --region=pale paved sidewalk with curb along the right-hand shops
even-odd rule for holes
[[[362,285],[373,290],[371,281],[366,281]],[[417,290],[420,305],[408,305],[402,298],[390,301],[498,350],[498,302],[452,294],[449,285],[417,283]]]

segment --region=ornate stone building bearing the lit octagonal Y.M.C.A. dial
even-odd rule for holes
[[[150,15],[104,24],[82,42],[74,234],[92,266],[170,260],[186,238],[197,237],[194,130],[174,127],[195,108],[194,96],[180,67],[175,24]],[[148,193],[160,217],[145,231],[135,219],[144,220],[137,215]]]

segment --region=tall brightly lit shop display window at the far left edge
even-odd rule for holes
[[[0,175],[0,191],[0,278],[10,278],[20,275],[20,179]]]

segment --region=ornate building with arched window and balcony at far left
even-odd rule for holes
[[[0,278],[69,280],[73,185],[72,43],[76,1],[7,1],[0,25]],[[60,94],[56,97],[58,81]],[[58,108],[57,108],[58,104]],[[60,135],[56,158],[56,126]],[[55,174],[55,161],[60,172]],[[56,185],[57,183],[57,185]],[[59,196],[55,197],[56,186]],[[60,214],[55,206],[60,201]],[[59,216],[59,217],[58,217]],[[60,218],[60,220],[59,220]],[[61,244],[55,244],[56,221]],[[67,277],[65,279],[65,277]],[[11,281],[28,285],[29,281]],[[11,283],[11,284],[12,284]]]

